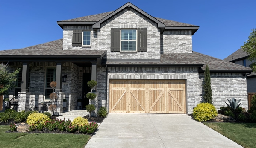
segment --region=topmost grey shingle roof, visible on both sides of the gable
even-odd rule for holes
[[[103,19],[104,17],[106,17],[107,15],[111,14],[113,11],[111,12],[104,12],[104,13],[100,13],[97,15],[88,15],[88,16],[84,16],[84,17],[78,17],[78,18],[73,18],[70,20],[62,20],[59,22],[98,22],[101,19]],[[180,22],[176,22],[173,20],[166,20],[163,18],[158,18],[155,17],[157,20],[159,20],[160,22],[164,23],[166,25],[166,27],[189,27],[189,26],[196,26],[196,25],[191,25],[191,24],[187,24],[187,23],[180,23]]]

